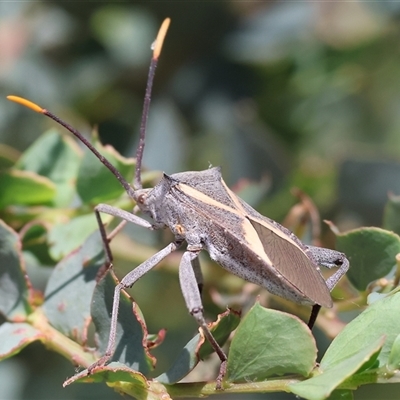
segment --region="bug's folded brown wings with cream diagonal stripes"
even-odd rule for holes
[[[229,196],[230,206],[185,183],[175,185],[174,190],[177,190],[176,197],[182,203],[195,209],[197,215],[212,220],[215,227],[225,227],[225,235],[229,233],[232,238],[236,238],[236,243],[245,244],[248,252],[257,255],[264,262],[265,268],[275,271],[276,276],[270,276],[271,280],[277,280],[277,276],[281,275],[280,283],[286,287],[286,293],[297,291],[303,298],[331,307],[330,292],[319,272],[319,266],[308,257],[300,240],[286,228],[258,214],[239,199],[222,179],[218,183],[219,185],[214,182],[214,188]],[[253,265],[246,266],[248,272],[252,268]]]

